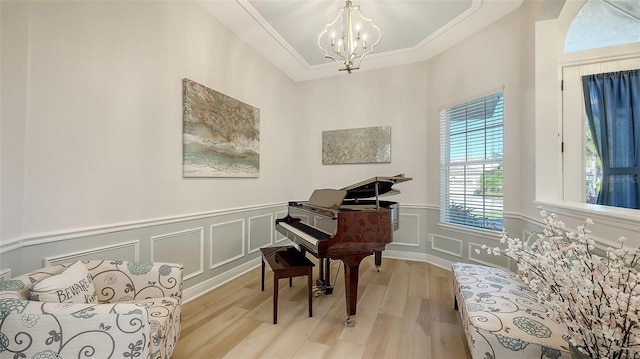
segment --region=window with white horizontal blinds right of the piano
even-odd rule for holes
[[[502,229],[502,92],[440,111],[440,220]]]

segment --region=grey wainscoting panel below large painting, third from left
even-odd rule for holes
[[[244,255],[245,222],[244,219],[238,219],[211,226],[210,269],[242,258]]]

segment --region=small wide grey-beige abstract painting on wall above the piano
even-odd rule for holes
[[[390,163],[391,127],[322,131],[322,164]]]

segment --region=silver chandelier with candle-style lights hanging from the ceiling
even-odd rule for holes
[[[338,10],[338,16],[327,24],[318,36],[318,46],[324,57],[338,64],[339,71],[357,70],[360,62],[382,39],[382,30],[360,12],[359,5],[346,5]]]

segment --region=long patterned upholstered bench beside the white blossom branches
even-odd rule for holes
[[[515,273],[454,263],[455,306],[473,358],[571,358],[563,328]]]

